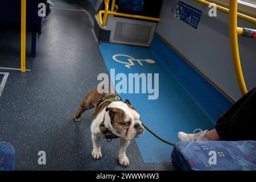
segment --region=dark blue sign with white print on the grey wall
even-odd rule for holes
[[[176,18],[197,29],[201,15],[201,10],[179,1],[175,14]]]

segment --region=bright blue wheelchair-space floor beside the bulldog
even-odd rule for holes
[[[154,73],[159,74],[159,95],[156,100],[148,99],[148,96],[153,95],[150,93],[128,93],[128,85],[127,93],[118,94],[123,101],[127,98],[131,102],[131,105],[141,114],[142,122],[160,137],[176,143],[179,142],[177,138],[179,131],[192,133],[197,128],[202,130],[214,128],[212,119],[201,110],[164,65],[152,55],[149,48],[102,43],[100,50],[111,80],[116,86],[119,81],[115,76],[118,73],[124,73],[127,79],[129,79],[129,73],[145,73],[146,75],[152,73],[152,80],[156,76]],[[117,55],[115,56],[117,61],[113,59],[114,55]],[[155,63],[147,60],[154,60]],[[114,69],[115,74],[110,69]],[[148,80],[151,80],[150,76],[147,76],[147,82]],[[154,85],[155,82],[152,82],[156,94],[158,88],[156,84]],[[147,130],[135,141],[144,163],[171,162],[173,147],[156,139]]]

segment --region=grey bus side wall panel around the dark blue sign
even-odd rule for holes
[[[203,11],[197,30],[175,18],[177,0],[164,0],[160,22],[156,32],[179,52],[189,58],[195,67],[220,85],[234,98],[241,97],[232,64],[229,45],[228,15],[217,11],[217,17],[208,16],[208,7],[191,0],[184,0]],[[238,20],[238,26],[256,29],[254,24]],[[239,38],[242,69],[247,88],[256,86],[256,42],[249,38]]]

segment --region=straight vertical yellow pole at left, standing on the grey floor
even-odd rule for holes
[[[26,0],[21,0],[20,67],[26,72]]]

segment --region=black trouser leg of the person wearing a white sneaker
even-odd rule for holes
[[[215,129],[221,140],[256,140],[256,88],[221,115]]]

